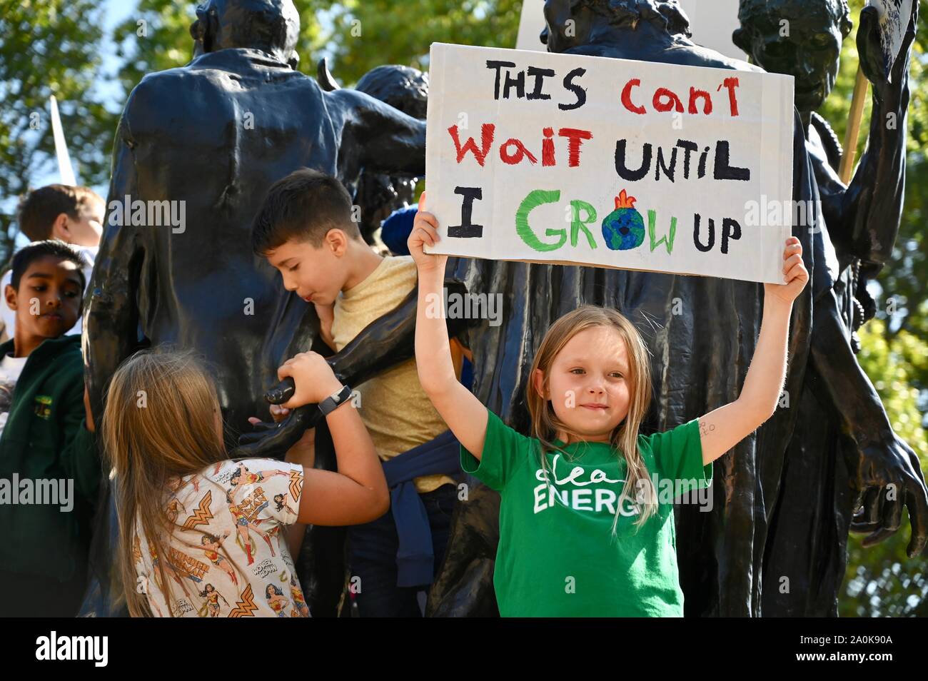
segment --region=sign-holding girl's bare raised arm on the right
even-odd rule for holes
[[[786,239],[783,274],[786,283],[764,284],[760,337],[741,394],[734,402],[699,419],[703,465],[728,452],[777,410],[786,378],[786,347],[793,301],[809,279],[798,238]]]

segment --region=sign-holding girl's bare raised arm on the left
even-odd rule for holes
[[[486,407],[455,375],[442,290],[448,257],[422,250],[423,244],[434,246],[438,241],[438,221],[431,212],[422,212],[424,199],[425,192],[422,192],[419,212],[407,242],[409,253],[419,268],[419,306],[416,313],[419,383],[458,442],[479,459],[483,456],[486,436]]]

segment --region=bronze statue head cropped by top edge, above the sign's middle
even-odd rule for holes
[[[670,35],[690,37],[690,19],[677,0],[547,0],[541,42],[548,52],[565,52],[586,45],[590,33],[601,27],[634,30],[650,23]]]

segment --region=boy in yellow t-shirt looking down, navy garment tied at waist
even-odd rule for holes
[[[270,187],[252,226],[255,253],[277,268],[286,289],[316,306],[322,338],[335,351],[417,284],[412,258],[372,251],[352,215],[351,197],[336,178],[303,168]],[[458,442],[422,391],[415,359],[357,386],[353,404],[384,462],[392,497],[379,520],[349,529],[358,609],[364,617],[419,616],[419,591],[444,558],[457,502],[449,473],[459,473]]]

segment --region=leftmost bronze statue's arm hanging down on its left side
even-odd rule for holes
[[[128,105],[127,105],[128,109]],[[126,115],[116,130],[112,179],[107,206],[122,204],[126,195],[137,196],[135,142]],[[103,394],[116,367],[138,345],[138,309],[135,295],[145,257],[146,230],[120,225],[110,210],[91,276],[84,307],[84,367],[94,420],[103,416]],[[116,223],[112,225],[110,223]]]

